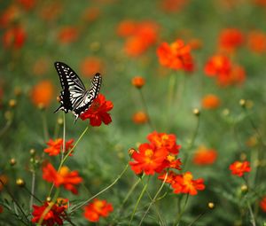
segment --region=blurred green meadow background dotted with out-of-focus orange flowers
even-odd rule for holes
[[[129,161],[128,149],[145,143],[153,131],[142,98],[131,84],[133,77],[142,76],[142,91],[156,130],[175,134],[177,144],[185,146],[197,127],[192,111],[199,108],[200,127],[190,152],[204,146],[217,154],[211,164],[188,163],[189,171],[205,179],[206,190],[190,200],[184,225],[203,213],[209,201],[217,207],[195,225],[250,225],[239,196],[243,182],[232,178],[228,167],[234,160],[250,160],[254,150],[263,149],[257,138],[265,137],[266,125],[265,0],[14,0],[0,1],[0,10],[0,176],[5,176],[12,192],[20,190],[15,185],[17,177],[30,181],[29,150],[42,156],[48,139],[62,136],[59,120],[63,114],[53,113],[61,90],[54,62],[61,61],[79,74],[87,88],[95,73],[103,74],[101,93],[113,102],[112,123],[90,128],[68,162],[85,178],[91,194],[113,182]],[[237,37],[224,38],[226,32]],[[176,39],[191,46],[194,70],[190,73],[159,63],[156,51],[160,43]],[[207,60],[218,53],[241,66],[239,79],[221,85],[206,76]],[[176,99],[168,105],[171,89]],[[211,107],[204,105],[210,94],[218,98]],[[246,99],[248,113],[243,112],[240,99]],[[66,114],[67,140],[77,139],[89,123],[79,120],[74,125],[73,121],[73,115]],[[181,149],[181,159],[183,155]],[[9,164],[12,158],[17,162],[13,167]],[[262,225],[265,213],[259,203],[266,194],[262,184],[265,155],[260,152],[254,158],[252,167],[259,173],[252,176],[259,195],[252,194],[250,199]],[[104,195],[114,208],[136,178],[130,170],[127,174]],[[36,192],[45,199],[49,186],[42,181],[41,170],[37,175]],[[138,189],[128,214],[142,188]],[[27,193],[17,195],[27,202]],[[81,191],[78,199],[84,197]],[[161,203],[168,222],[174,214],[170,202],[163,199]],[[6,211],[0,214],[1,221],[7,216]],[[88,225],[82,219],[77,223]],[[153,217],[145,223],[154,225]]]

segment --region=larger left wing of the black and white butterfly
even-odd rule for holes
[[[62,62],[55,62],[55,67],[59,74],[59,79],[62,87],[60,95],[61,105],[55,111],[59,110],[68,111],[74,110],[74,105],[78,105],[82,102],[82,99],[85,96],[86,89],[82,80],[77,74],[74,73],[74,70],[70,66]]]

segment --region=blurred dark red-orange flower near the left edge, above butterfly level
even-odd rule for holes
[[[4,32],[3,44],[6,49],[20,49],[26,40],[26,32],[23,27],[11,27]]]

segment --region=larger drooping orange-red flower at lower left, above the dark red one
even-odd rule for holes
[[[78,193],[74,186],[82,183],[82,177],[78,175],[77,171],[69,172],[69,168],[63,166],[59,169],[59,172],[57,172],[57,170],[52,167],[51,163],[43,167],[43,179],[47,182],[54,183],[55,187],[63,185],[66,190],[74,194]]]

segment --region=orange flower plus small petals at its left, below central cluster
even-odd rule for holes
[[[174,190],[174,193],[185,193],[190,195],[197,195],[198,191],[205,189],[204,180],[202,178],[193,180],[193,175],[191,172],[185,172],[184,174],[176,174],[173,171],[169,171],[168,175],[166,173],[159,175],[160,180],[165,180],[166,183],[170,183]]]

